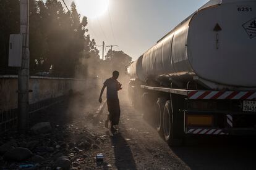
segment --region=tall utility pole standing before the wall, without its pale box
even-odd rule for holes
[[[23,37],[22,66],[19,69],[19,96],[18,96],[18,128],[20,132],[28,129],[28,84],[29,84],[29,49],[28,49],[28,28],[29,28],[29,0],[20,0],[20,34]]]

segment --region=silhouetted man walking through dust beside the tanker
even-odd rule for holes
[[[100,92],[100,98],[99,102],[102,102],[102,94],[105,90],[105,87],[107,87],[107,105],[108,105],[108,119],[106,121],[106,124],[108,124],[108,120],[111,123],[111,131],[116,132],[117,126],[119,124],[119,118],[120,118],[120,106],[119,106],[119,99],[117,91],[122,89],[122,84],[117,81],[117,78],[119,76],[118,71],[113,71],[113,76],[109,79],[106,79],[106,81],[103,83],[103,87]]]

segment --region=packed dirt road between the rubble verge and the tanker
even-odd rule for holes
[[[103,120],[107,109],[90,131],[108,134]],[[90,117],[90,116],[89,116]],[[255,169],[255,139],[250,137],[189,138],[183,147],[170,148],[153,127],[121,97],[120,132],[101,145],[105,166],[96,169]],[[93,154],[96,154],[93,153]],[[106,166],[108,165],[108,166]],[[89,168],[89,167],[87,167]],[[92,164],[91,167],[92,168]]]

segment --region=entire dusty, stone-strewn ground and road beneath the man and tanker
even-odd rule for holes
[[[255,169],[255,139],[187,139],[170,148],[124,92],[120,131],[111,137],[104,127],[107,110],[96,113],[93,91],[36,113],[27,134],[2,134],[0,169]],[[103,161],[96,161],[97,153]]]

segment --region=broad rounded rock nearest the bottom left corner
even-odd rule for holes
[[[4,154],[5,160],[23,161],[32,156],[32,152],[27,148],[14,148],[13,150]]]

